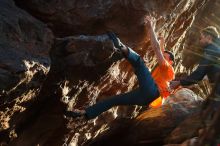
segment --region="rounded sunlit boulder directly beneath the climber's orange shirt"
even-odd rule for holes
[[[120,119],[110,123],[108,130],[86,145],[162,145],[174,127],[199,111],[202,101],[191,90],[181,89],[160,108],[149,109],[133,120]]]

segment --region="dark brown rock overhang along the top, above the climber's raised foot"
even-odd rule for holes
[[[113,30],[126,38],[128,34],[134,35],[135,40],[143,39],[141,25],[145,14],[153,10],[156,14],[168,16],[179,3],[177,0],[167,0],[163,5],[160,1],[153,0],[18,0],[16,2],[48,23],[58,35],[97,34]],[[187,1],[182,3],[186,4]]]

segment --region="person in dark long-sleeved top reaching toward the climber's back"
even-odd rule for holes
[[[219,33],[214,26],[208,26],[200,32],[200,45],[204,50],[204,55],[194,72],[182,80],[171,81],[171,89],[178,86],[188,86],[198,83],[205,75],[208,76],[211,85],[214,85],[220,74],[220,39]],[[215,87],[214,100],[220,102],[220,84]]]

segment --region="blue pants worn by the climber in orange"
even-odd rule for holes
[[[140,105],[147,106],[159,97],[159,91],[154,79],[141,57],[129,48],[127,60],[134,68],[139,87],[128,93],[115,95],[86,108],[87,119],[93,119],[101,113],[118,105]]]

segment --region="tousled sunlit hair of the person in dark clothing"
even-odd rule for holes
[[[200,31],[200,33],[204,34],[205,36],[210,35],[212,40],[219,38],[219,32],[216,27],[208,26]]]

